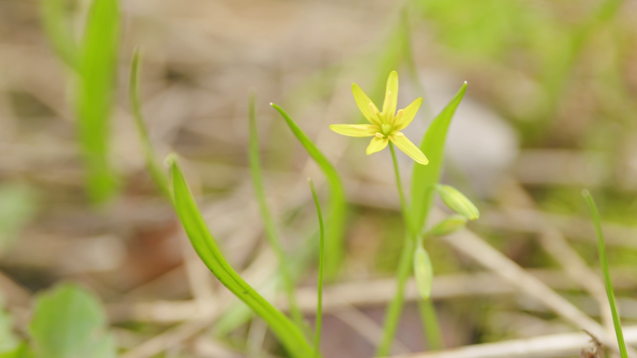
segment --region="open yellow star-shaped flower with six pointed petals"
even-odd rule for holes
[[[366,153],[368,155],[380,152],[387,147],[389,141],[392,141],[396,147],[406,155],[409,155],[414,161],[423,165],[429,163],[420,148],[416,147],[401,132],[412,122],[413,117],[415,117],[420,108],[422,97],[418,97],[412,104],[396,112],[396,101],[398,98],[398,74],[396,71],[392,71],[387,78],[387,90],[385,91],[382,111],[378,111],[378,107],[356,83],[352,83],[352,93],[362,115],[371,124],[333,124],[329,126],[329,129],[344,136],[374,137],[367,147]]]

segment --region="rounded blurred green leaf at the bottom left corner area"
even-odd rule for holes
[[[97,297],[64,283],[36,299],[29,333],[36,358],[115,358],[112,334]]]

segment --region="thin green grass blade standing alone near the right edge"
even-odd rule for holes
[[[608,269],[608,258],[606,257],[606,245],[604,244],[604,233],[601,231],[601,219],[599,218],[599,211],[593,197],[590,195],[589,190],[583,190],[582,196],[589,206],[590,218],[595,226],[595,232],[598,236],[598,250],[599,250],[599,262],[601,264],[602,272],[604,273],[604,283],[606,284],[606,296],[608,296],[608,303],[610,304],[610,311],[613,314],[613,325],[615,326],[615,334],[617,335],[617,343],[619,344],[619,355],[622,358],[627,358],[626,343],[624,342],[624,333],[622,332],[622,324],[619,320],[619,313],[617,313],[617,304],[615,303],[615,292],[613,292],[613,282],[610,279],[610,269]]]

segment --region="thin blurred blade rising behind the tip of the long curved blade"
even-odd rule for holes
[[[170,190],[168,188],[168,175],[166,171],[160,166],[157,161],[157,156],[153,149],[152,143],[150,143],[150,136],[148,135],[148,129],[145,124],[143,111],[141,110],[140,99],[140,48],[135,48],[135,52],[132,55],[131,62],[131,77],[129,79],[129,99],[131,101],[132,117],[135,120],[135,127],[137,128],[137,134],[140,136],[141,150],[144,152],[146,159],[146,166],[150,175],[157,185],[157,188],[166,197],[170,197]]]

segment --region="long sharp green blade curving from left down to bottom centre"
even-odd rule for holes
[[[197,255],[225,287],[268,324],[292,357],[307,358],[314,354],[314,349],[306,340],[303,331],[252,289],[225,261],[201,217],[175,159],[169,159],[168,164],[172,175],[175,211]]]

